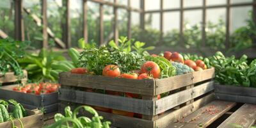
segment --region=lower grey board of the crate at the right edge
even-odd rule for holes
[[[243,103],[250,103],[256,104],[255,97],[246,97],[243,95],[233,95],[233,94],[225,94],[225,93],[216,93],[216,99],[220,100],[227,100],[232,102],[243,102]]]

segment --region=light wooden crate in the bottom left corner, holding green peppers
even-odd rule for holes
[[[12,106],[10,106],[10,109],[12,109]],[[20,118],[21,122],[23,123],[24,127],[33,127],[33,128],[41,128],[43,126],[43,113],[41,113],[40,110],[34,109],[34,110],[29,110],[26,109],[28,116],[24,118]],[[13,123],[17,127],[20,126],[20,122],[18,120],[13,120]],[[0,127],[12,127],[12,121],[8,122],[3,122],[0,123]]]

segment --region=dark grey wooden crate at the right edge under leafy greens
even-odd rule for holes
[[[214,85],[214,88],[216,99],[256,104],[256,88],[221,85],[218,83]]]

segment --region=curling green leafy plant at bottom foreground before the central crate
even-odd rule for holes
[[[93,115],[92,118],[88,118],[86,116],[77,117],[79,111],[83,109],[84,111],[88,111]],[[109,128],[111,122],[102,122],[102,116],[99,116],[97,111],[90,106],[79,106],[74,111],[71,111],[70,106],[65,108],[65,115],[61,113],[57,113],[54,115],[55,123],[47,126],[46,128],[55,128],[55,127],[97,127],[97,128]]]

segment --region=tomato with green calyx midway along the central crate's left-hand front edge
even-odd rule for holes
[[[120,69],[116,65],[108,65],[102,71],[102,75],[108,77],[117,77],[120,76],[120,74]]]

